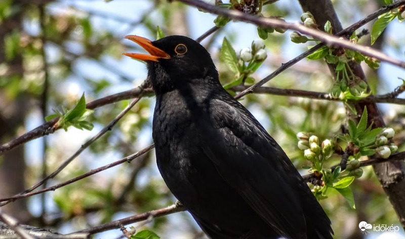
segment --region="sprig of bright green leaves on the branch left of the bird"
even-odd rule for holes
[[[89,121],[86,121],[86,118],[94,111],[86,109],[85,93],[82,94],[82,97],[73,109],[63,109],[63,112],[56,112],[55,114],[49,115],[45,118],[45,120],[49,121],[59,116],[60,118],[58,121],[58,126],[63,128],[65,131],[67,131],[67,128],[69,126],[73,126],[82,130],[93,129],[94,125]]]

